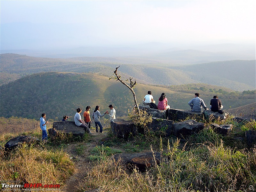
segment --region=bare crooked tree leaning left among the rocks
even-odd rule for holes
[[[119,67],[120,67],[120,65],[119,65]],[[116,81],[120,81],[122,84],[124,84],[126,87],[128,87],[128,88],[131,90],[132,95],[133,95],[133,98],[134,98],[134,107],[133,107],[133,111],[134,111],[135,108],[136,108],[136,110],[137,110],[137,112],[138,112],[138,114],[139,114],[139,116],[140,116],[140,109],[139,109],[139,106],[138,106],[138,103],[137,103],[136,94],[135,94],[135,92],[134,92],[134,90],[133,90],[134,87],[135,87],[135,85],[137,84],[137,83],[136,83],[136,79],[135,79],[134,82],[133,82],[133,81],[132,81],[133,77],[130,77],[130,86],[129,86],[128,84],[126,84],[126,83],[121,79],[120,73],[117,74],[117,69],[118,69],[119,67],[116,66],[116,70],[114,71],[114,74],[115,74],[116,76],[111,76],[111,77],[109,77],[109,79],[117,79]],[[128,79],[126,79],[126,81],[128,81]]]

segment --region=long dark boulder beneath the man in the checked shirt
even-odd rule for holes
[[[182,109],[168,109],[168,119],[173,121],[184,121],[186,119],[195,119],[199,121],[203,119],[203,113],[187,111]]]

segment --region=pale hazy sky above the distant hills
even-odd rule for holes
[[[255,0],[0,1],[1,49],[255,43]]]

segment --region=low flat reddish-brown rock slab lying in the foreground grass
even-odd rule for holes
[[[144,172],[155,164],[160,163],[161,154],[156,152],[155,159],[152,152],[147,153],[121,153],[113,156],[117,162],[120,158],[121,163],[126,165],[128,169],[138,168],[140,172]],[[155,161],[156,160],[156,161]]]

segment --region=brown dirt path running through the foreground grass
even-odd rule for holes
[[[72,158],[76,172],[68,178],[66,181],[66,185],[63,186],[62,191],[66,192],[74,192],[77,191],[77,187],[79,185],[79,182],[84,179],[84,175],[87,174],[87,171],[92,168],[92,165],[90,164],[88,160],[88,156],[90,154],[90,151],[97,145],[101,145],[101,140],[106,138],[108,130],[103,130],[103,133],[96,133],[96,131],[92,131],[92,135],[90,135],[89,142],[88,143],[71,143],[68,144],[68,147],[66,149],[66,153]],[[76,152],[77,145],[86,146],[84,149],[84,153],[79,155]]]

